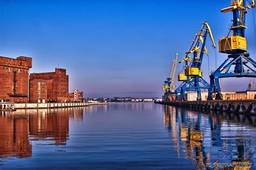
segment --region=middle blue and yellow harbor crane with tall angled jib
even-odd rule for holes
[[[192,40],[192,44],[186,52],[186,56],[179,62],[185,62],[185,73],[180,73],[178,75],[178,80],[183,81],[183,83],[176,89],[176,99],[185,100],[186,91],[196,91],[197,100],[201,100],[201,89],[208,90],[210,88],[210,84],[202,78],[203,74],[201,72],[204,53],[208,56],[208,50],[205,46],[207,35],[210,35],[213,48],[215,49],[216,45],[214,43],[210,25],[205,21],[203,22],[199,33],[197,33]],[[193,58],[189,56],[191,53],[193,53]]]

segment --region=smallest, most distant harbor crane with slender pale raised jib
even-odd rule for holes
[[[170,93],[171,90],[176,87],[175,85],[173,85],[173,83],[174,83],[174,77],[175,77],[175,72],[177,67],[177,59],[178,59],[178,53],[176,53],[176,57],[174,58],[174,60],[172,60],[172,67],[171,67],[169,77],[166,78],[166,80],[164,81],[163,90],[165,91],[165,93]]]

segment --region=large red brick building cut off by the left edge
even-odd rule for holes
[[[28,102],[32,58],[0,57],[0,101]]]

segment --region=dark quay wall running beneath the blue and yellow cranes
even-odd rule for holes
[[[256,100],[171,101],[158,104],[223,112],[256,114]]]

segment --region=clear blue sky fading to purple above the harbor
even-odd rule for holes
[[[59,65],[70,76],[70,91],[82,90],[86,97],[161,97],[172,59],[176,52],[179,60],[184,57],[203,21],[210,24],[216,44],[227,35],[231,12],[220,12],[227,6],[230,0],[1,0],[0,56],[32,57],[31,73]],[[253,10],[246,21],[252,58]],[[210,39],[207,47],[214,70]],[[226,56],[217,55],[220,65]],[[203,71],[208,81],[207,57]],[[223,90],[246,90],[249,82],[225,79]]]

